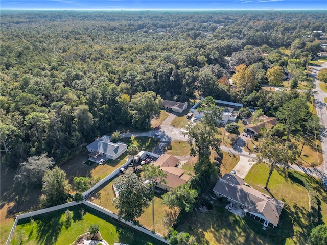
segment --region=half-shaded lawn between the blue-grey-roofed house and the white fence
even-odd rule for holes
[[[63,165],[60,166],[62,170],[64,170],[67,174],[67,179],[69,184],[74,184],[74,177],[78,176],[84,176],[84,177],[93,177],[97,178],[100,177],[100,179],[103,179],[114,169],[119,168],[121,165],[126,163],[126,160],[128,157],[127,152],[122,154],[118,159],[107,160],[103,165],[100,165],[98,163],[92,164],[91,166],[88,166],[84,164],[88,160],[88,152],[85,151],[83,153],[78,154],[73,159],[67,161]]]

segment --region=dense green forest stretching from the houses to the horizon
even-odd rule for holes
[[[325,11],[2,10],[2,160],[16,168],[48,153],[61,164],[118,125],[148,129],[167,91],[273,115],[297,95],[260,90],[273,84],[267,71],[297,70],[296,88],[320,51],[314,31],[327,31]]]

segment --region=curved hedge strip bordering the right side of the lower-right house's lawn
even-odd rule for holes
[[[310,202],[311,223],[316,224],[319,220],[318,199],[317,199],[316,192],[313,190],[309,181],[305,177],[301,176],[300,174],[289,172],[288,177],[290,179],[295,180],[296,182],[299,182],[301,185],[306,187],[306,189],[308,190],[309,202]]]

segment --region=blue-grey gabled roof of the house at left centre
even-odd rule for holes
[[[124,148],[127,148],[127,144],[113,143],[111,142],[110,136],[104,135],[101,138],[93,141],[86,147],[87,149],[97,151],[100,153],[105,153],[106,155],[109,156],[115,156],[116,154],[121,152]]]

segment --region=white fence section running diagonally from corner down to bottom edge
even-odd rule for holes
[[[104,214],[106,214],[106,215],[108,215],[108,216],[110,216],[110,217],[112,217],[114,219],[118,219],[120,222],[122,222],[122,223],[124,223],[124,224],[126,224],[128,226],[131,226],[134,229],[136,229],[138,231],[141,231],[141,232],[143,232],[143,233],[145,233],[145,234],[147,234],[149,236],[152,236],[153,238],[155,238],[155,239],[157,239],[157,240],[159,240],[161,242],[169,244],[169,242],[167,240],[165,240],[160,234],[153,233],[152,231],[150,231],[149,229],[147,229],[145,227],[134,225],[133,222],[125,221],[124,219],[120,219],[117,214],[111,212],[108,209],[105,209],[105,208],[103,208],[103,207],[101,207],[101,206],[99,206],[97,204],[91,203],[91,202],[89,202],[87,200],[83,200],[83,204],[85,204],[86,206],[88,206],[88,207],[90,207],[92,209],[95,209],[95,210],[97,210],[99,212],[102,212],[102,213],[104,213]]]

